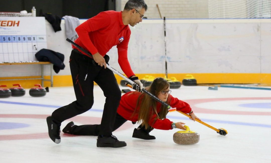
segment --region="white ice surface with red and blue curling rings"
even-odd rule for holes
[[[120,89],[128,89],[121,87]],[[205,123],[228,131],[226,136],[178,112],[167,118],[184,122],[200,135],[193,145],[173,142],[169,131],[154,129],[155,140],[132,138],[130,121],[113,132],[123,148],[96,147],[96,136],[71,136],[60,133],[61,143],[48,136],[46,117],[75,100],[73,87],[52,87],[44,97],[25,96],[0,99],[0,162],[271,162],[271,90],[222,88],[208,90],[208,86],[181,86],[171,89],[172,95],[189,103],[195,114]],[[92,109],[62,123],[76,125],[99,124],[105,97],[94,87]]]

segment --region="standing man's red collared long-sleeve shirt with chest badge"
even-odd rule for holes
[[[88,50],[92,55],[99,52],[105,56],[113,46],[117,45],[118,63],[122,71],[127,77],[134,75],[127,58],[131,30],[128,25],[123,24],[122,11],[100,12],[76,27],[75,31],[78,34],[75,43]],[[73,48],[76,47],[73,46]]]

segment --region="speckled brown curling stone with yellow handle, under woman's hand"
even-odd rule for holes
[[[195,131],[191,131],[188,126],[184,126],[186,131],[178,131],[173,134],[173,141],[176,144],[196,144],[199,142],[199,134]]]

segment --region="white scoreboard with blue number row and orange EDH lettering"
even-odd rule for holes
[[[44,17],[0,17],[0,63],[37,61],[47,48]]]

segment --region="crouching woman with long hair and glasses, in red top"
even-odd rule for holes
[[[199,119],[192,111],[188,103],[183,102],[170,95],[169,83],[163,78],[156,78],[147,90],[157,96],[163,102],[168,103],[173,108],[183,113],[189,113],[191,120]],[[117,115],[114,123],[113,131],[118,129],[127,120],[132,122],[141,122],[141,125],[134,129],[133,137],[141,139],[155,139],[149,135],[149,132],[155,129],[170,130],[173,128],[183,129],[183,122],[172,122],[166,118],[168,109],[161,105],[146,93],[128,92],[121,97],[118,106]],[[200,120],[200,119],[199,119]],[[62,130],[64,133],[73,135],[92,135],[97,136],[101,125],[74,125],[70,122]]]

